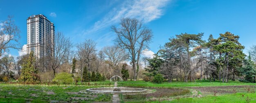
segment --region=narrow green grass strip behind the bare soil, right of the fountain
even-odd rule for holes
[[[118,86],[128,87],[159,87],[159,88],[181,88],[181,87],[207,87],[207,86],[229,86],[229,85],[256,85],[256,83],[244,83],[240,81],[229,81],[228,83],[222,83],[220,81],[195,81],[195,82],[180,82],[174,81],[172,83],[164,82],[162,84],[145,82],[145,81],[123,81],[119,82]]]

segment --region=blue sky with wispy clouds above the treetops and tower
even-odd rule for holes
[[[229,31],[240,36],[244,53],[256,39],[256,0],[0,0],[0,21],[13,15],[20,27],[20,44],[27,43],[26,19],[43,14],[74,44],[93,39],[97,49],[112,45],[110,29],[124,17],[143,20],[154,38],[147,55],[180,33],[204,33],[217,38]],[[18,50],[10,50],[18,56]]]

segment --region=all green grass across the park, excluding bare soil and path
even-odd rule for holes
[[[88,94],[67,94],[66,92],[79,92],[88,88],[96,87],[113,87],[114,82],[103,81],[103,82],[79,82],[78,85],[73,84],[36,84],[36,85],[24,85],[18,83],[0,83],[0,103],[25,103],[27,101],[31,103],[45,103],[51,100],[56,101],[72,101],[87,103],[90,101],[106,101],[110,102],[112,94],[94,94],[98,97],[87,101],[82,100],[71,100],[71,97],[87,97]],[[175,81],[172,83],[164,82],[162,84],[145,82],[145,81],[123,81],[118,82],[118,87],[137,87],[137,88],[178,88],[188,90],[187,87],[209,87],[209,86],[229,86],[229,85],[256,85],[256,83],[244,83],[240,81],[229,81],[229,83],[222,83],[220,81],[209,82],[209,81],[195,81],[195,82],[179,82]],[[65,89],[63,89],[65,88]],[[225,88],[224,88],[225,89]],[[169,97],[164,98],[148,98],[146,95],[122,95],[122,103],[246,103],[246,99],[251,103],[256,103],[256,93],[248,93],[245,88],[237,88],[239,93],[236,94],[218,94],[213,96],[212,94],[204,95],[198,91],[198,94],[202,94],[204,97],[201,98],[183,98],[183,94],[168,95]],[[189,89],[191,90],[191,89]],[[232,91],[233,88],[227,88],[225,90]],[[55,94],[47,94],[47,91],[52,91]],[[192,90],[191,90],[192,91]],[[190,92],[191,92],[190,91]],[[9,94],[11,92],[11,94]],[[187,93],[187,92],[186,92]],[[38,97],[31,96],[36,94]],[[244,97],[242,96],[244,95]],[[7,98],[4,98],[4,97]],[[191,96],[188,95],[188,96]],[[166,99],[174,99],[172,101],[164,101]]]

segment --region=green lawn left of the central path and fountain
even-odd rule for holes
[[[23,84],[5,84],[0,83],[0,103],[16,102],[19,103],[23,101],[31,101],[32,103],[45,103],[51,100],[56,101],[71,101],[71,97],[88,97],[89,93],[85,94],[67,94],[66,92],[79,92],[81,90],[86,90],[88,88],[95,87],[112,87],[113,83],[110,81],[104,82],[90,82],[79,83],[79,85],[23,85]],[[55,94],[47,94],[47,92],[54,92]],[[31,94],[36,94],[36,96],[31,96]],[[88,101],[110,101],[112,94],[94,94],[98,95],[95,99],[90,99]],[[7,98],[4,98],[7,97]],[[79,100],[72,100],[79,101]]]

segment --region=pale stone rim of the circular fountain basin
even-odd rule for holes
[[[92,89],[114,89],[114,88],[120,88],[120,89],[137,89],[137,90],[132,90],[132,91],[100,91],[100,90],[92,90]],[[147,89],[144,88],[126,88],[126,87],[99,87],[99,88],[89,88],[86,89],[87,92],[92,92],[92,93],[137,93],[137,92],[145,92]]]

